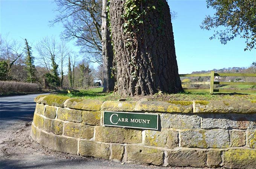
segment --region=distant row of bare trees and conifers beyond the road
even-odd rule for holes
[[[65,42],[43,38],[35,45],[29,41],[7,40],[0,36],[0,81],[38,83],[42,88],[88,88],[102,80],[102,69],[95,70]],[[37,53],[36,56],[34,53]]]

